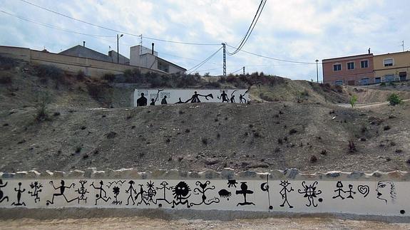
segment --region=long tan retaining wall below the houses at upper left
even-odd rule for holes
[[[96,77],[101,77],[106,73],[121,74],[125,70],[133,68],[140,69],[141,73],[165,73],[160,70],[150,70],[148,68],[141,68],[137,66],[121,65],[106,61],[98,61],[91,58],[80,58],[57,53],[34,51],[29,48],[0,46],[0,55],[18,58],[36,64],[56,66],[71,73],[78,73],[79,70],[82,70],[86,73],[86,75]]]

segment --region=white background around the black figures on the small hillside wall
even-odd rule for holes
[[[246,89],[240,89],[240,90],[228,90],[228,89],[223,89],[223,90],[201,90],[201,89],[163,89],[163,91],[159,92],[158,94],[158,89],[135,89],[134,90],[134,106],[137,106],[137,100],[140,98],[141,93],[144,93],[144,97],[147,98],[148,105],[150,105],[151,99],[154,99],[157,97],[158,94],[158,99],[155,102],[155,105],[160,105],[161,100],[164,98],[166,95],[166,101],[168,104],[175,104],[178,103],[181,99],[183,103],[191,103],[190,98],[193,97],[195,91],[199,95],[212,95],[207,96],[207,99],[203,96],[199,96],[199,100],[202,103],[221,103],[222,98],[221,94],[222,91],[225,91],[227,95],[227,100],[230,100],[232,93],[235,96],[235,103],[240,103],[240,95],[243,95],[244,99],[246,101],[249,100],[249,94],[245,92],[247,91]],[[245,101],[242,101],[245,103]]]

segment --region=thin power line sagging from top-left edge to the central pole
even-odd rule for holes
[[[59,16],[66,17],[66,18],[68,18],[68,19],[72,19],[72,20],[75,20],[75,21],[79,21],[79,22],[81,22],[81,23],[86,23],[86,24],[88,24],[88,25],[90,25],[90,26],[96,26],[96,27],[98,27],[98,28],[103,28],[103,29],[106,29],[106,30],[108,30],[108,31],[113,31],[113,32],[116,32],[116,33],[123,33],[123,34],[129,35],[129,36],[135,36],[135,37],[140,37],[140,38],[143,37],[143,38],[150,39],[150,40],[154,40],[154,41],[163,41],[163,42],[168,42],[168,43],[178,43],[178,44],[185,44],[185,45],[195,45],[195,46],[220,46],[219,43],[192,43],[192,42],[183,42],[183,41],[170,41],[170,40],[159,39],[159,38],[150,38],[150,37],[146,37],[146,36],[137,35],[137,34],[134,34],[134,33],[128,33],[128,32],[125,32],[125,31],[118,31],[118,30],[113,29],[113,28],[108,28],[108,27],[106,27],[106,26],[99,26],[99,25],[97,25],[97,24],[90,23],[90,22],[88,22],[88,21],[83,21],[83,20],[81,20],[81,19],[73,18],[73,17],[68,16],[68,15],[66,15],[66,14],[58,13],[57,11],[53,11],[53,10],[48,9],[48,8],[46,8],[46,7],[36,5],[36,4],[34,4],[34,3],[31,3],[30,1],[26,1],[26,0],[20,0],[20,1],[23,1],[23,2],[25,2],[26,4],[30,4],[31,6],[36,6],[36,7],[40,8],[40,9],[49,11],[49,12],[51,12],[51,13],[53,13],[53,14],[58,14]]]

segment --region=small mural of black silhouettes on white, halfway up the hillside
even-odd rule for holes
[[[216,96],[214,98],[214,96]],[[239,98],[239,101],[235,100]],[[148,97],[148,98],[147,98]],[[202,90],[202,89],[136,89],[134,106],[183,104],[183,103],[247,103],[248,90]]]

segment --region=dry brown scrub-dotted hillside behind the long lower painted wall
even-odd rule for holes
[[[250,87],[254,100],[128,108],[132,86],[142,84],[138,80],[124,84],[53,71],[20,62],[1,68],[0,171],[409,169],[409,103],[394,110],[334,105],[347,103],[349,93],[362,103],[374,102],[379,89],[365,89],[374,92],[365,95],[264,75],[247,78],[255,82],[197,77],[187,86]],[[160,79],[168,84],[167,77]],[[150,80],[144,84],[150,86]],[[39,117],[44,95],[50,103]]]

